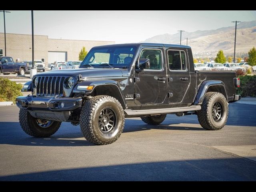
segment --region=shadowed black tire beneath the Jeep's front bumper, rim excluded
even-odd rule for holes
[[[61,124],[61,122],[54,121],[50,127],[42,128],[36,123],[36,118],[31,116],[26,109],[20,109],[19,121],[23,131],[33,137],[49,137],[60,128]]]

